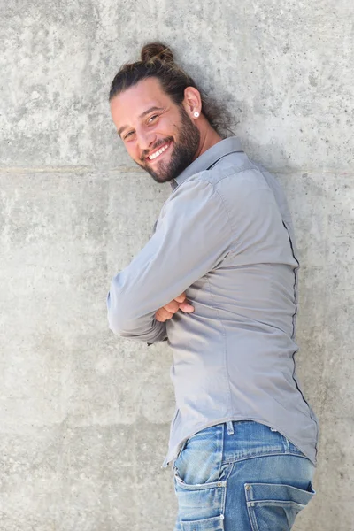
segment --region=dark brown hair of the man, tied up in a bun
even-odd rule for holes
[[[206,96],[204,91],[197,87],[196,82],[175,64],[172,50],[162,42],[146,44],[142,47],[140,61],[127,63],[119,69],[112,81],[110,101],[120,92],[150,77],[156,77],[160,81],[165,93],[177,105],[181,105],[184,99],[184,89],[197,89],[202,98],[202,112],[211,126],[219,135],[230,131],[230,118],[226,109]]]

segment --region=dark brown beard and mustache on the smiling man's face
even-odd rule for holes
[[[156,142],[153,150],[166,142],[173,142],[171,146],[173,151],[169,162],[163,160],[158,162],[158,167],[154,171],[149,164],[139,164],[143,170],[150,173],[154,181],[159,183],[172,181],[180,175],[194,160],[196,150],[199,147],[200,133],[194,125],[184,107],[180,108],[181,127],[178,134],[178,140],[174,143],[173,137],[168,136],[164,140]]]

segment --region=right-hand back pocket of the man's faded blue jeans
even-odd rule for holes
[[[312,486],[303,490],[273,483],[246,483],[244,489],[252,531],[288,531],[315,494]]]

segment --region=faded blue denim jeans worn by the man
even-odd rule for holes
[[[312,462],[270,427],[208,427],[174,461],[174,531],[288,531],[315,494]]]

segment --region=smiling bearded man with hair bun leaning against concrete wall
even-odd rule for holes
[[[317,419],[296,381],[297,270],[285,197],[165,45],[112,81],[125,147],[170,181],[156,231],[112,280],[112,331],[173,349],[176,530],[284,531],[312,498]]]

